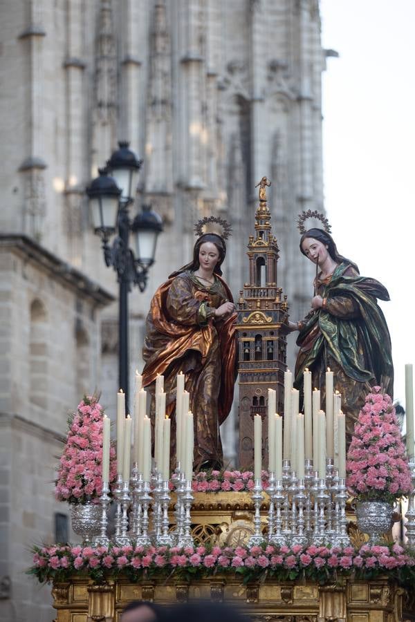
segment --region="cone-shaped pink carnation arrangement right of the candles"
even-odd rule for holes
[[[347,487],[360,501],[394,502],[412,491],[405,445],[391,398],[372,388],[347,454]]]

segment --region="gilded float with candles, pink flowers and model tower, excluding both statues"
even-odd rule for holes
[[[84,399],[69,422],[56,488],[71,504],[82,545],[35,547],[29,571],[53,583],[57,622],[118,621],[134,599],[225,601],[266,622],[415,620],[410,399],[409,459],[380,387],[360,409],[348,456],[330,369],[325,411],[308,369],[300,408],[286,369],[288,303],[277,287],[267,185],[263,178],[248,243],[250,281],[237,301],[239,470],[194,473],[185,373],[176,376],[172,417],[163,375],[156,377],[153,433],[148,392],[136,374],[132,418],[118,394],[116,447],[98,397]],[[391,538],[394,502],[403,496],[405,544]]]

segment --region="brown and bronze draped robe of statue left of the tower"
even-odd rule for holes
[[[230,412],[236,379],[236,314],[214,318],[214,310],[232,294],[215,275],[209,286],[192,272],[181,272],[154,294],[146,321],[142,356],[143,386],[154,397],[156,375],[165,377],[166,413],[172,418],[172,460],[176,453],[176,375],[186,375],[194,414],[194,466],[214,460],[223,464],[219,425]],[[154,422],[154,399],[151,400]]]

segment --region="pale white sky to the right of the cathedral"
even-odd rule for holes
[[[394,398],[415,363],[415,0],[320,0],[325,207],[339,252],[389,290]]]

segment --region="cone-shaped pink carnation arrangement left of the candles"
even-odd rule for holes
[[[102,428],[104,411],[98,396],[84,397],[68,420],[68,434],[59,460],[55,497],[58,501],[85,503],[102,493]],[[111,446],[110,483],[116,480],[116,451]]]

